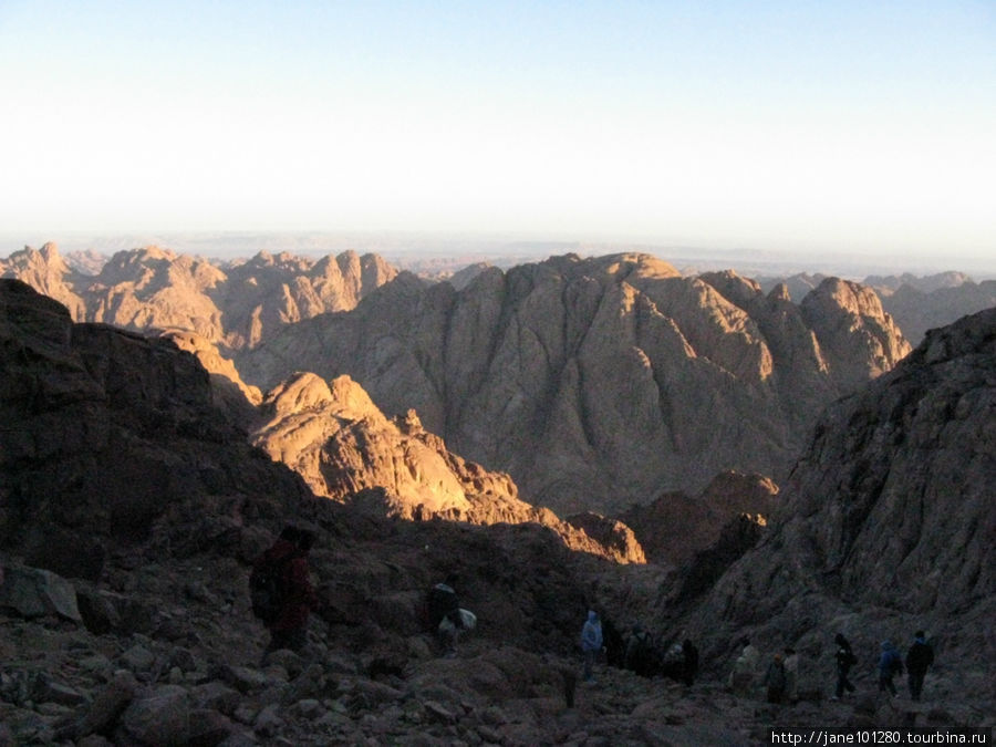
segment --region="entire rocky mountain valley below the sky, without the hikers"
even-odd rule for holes
[[[0,744],[993,726],[993,310],[911,352],[880,295],[832,278],[797,304],[641,255],[458,290],[355,255],[239,276],[157,251],[120,257],[145,280],[97,305],[71,270],[18,270],[55,301],[0,280]],[[153,281],[177,267],[186,300]],[[219,305],[232,278],[268,290]],[[74,323],[92,313],[146,333]],[[287,520],[319,536],[312,656],[260,667],[245,579]],[[453,570],[479,626],[443,660],[421,601]],[[692,637],[701,682],[603,666],[574,693],[589,608]],[[826,699],[836,632],[870,671],[916,627],[938,651],[928,704],[875,697],[870,674]],[[800,652],[799,704],[726,691],[744,635]]]

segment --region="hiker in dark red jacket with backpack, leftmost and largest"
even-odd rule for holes
[[[308,569],[308,553],[312,544],[314,535],[311,531],[284,527],[273,546],[253,566],[250,585],[255,584],[255,579],[268,574],[276,582],[276,587],[268,590],[270,599],[267,610],[258,610],[253,599],[253,612],[261,616],[270,631],[263,662],[273,651],[288,649],[298,653],[308,642],[308,615],[315,605]]]

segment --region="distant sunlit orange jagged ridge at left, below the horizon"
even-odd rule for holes
[[[0,276],[64,303],[75,321],[195,332],[226,350],[256,345],[284,324],[352,309],[396,271],[374,255],[319,260],[264,251],[228,263],[146,247],[120,251],[89,276],[53,243],[0,260]]]

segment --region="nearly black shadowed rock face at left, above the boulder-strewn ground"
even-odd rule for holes
[[[305,495],[253,456],[207,372],[167,340],[73,324],[0,280],[0,537],[29,562],[95,578],[108,543],[141,542],[166,516],[181,525],[191,504],[220,531],[246,495],[271,516]]]

